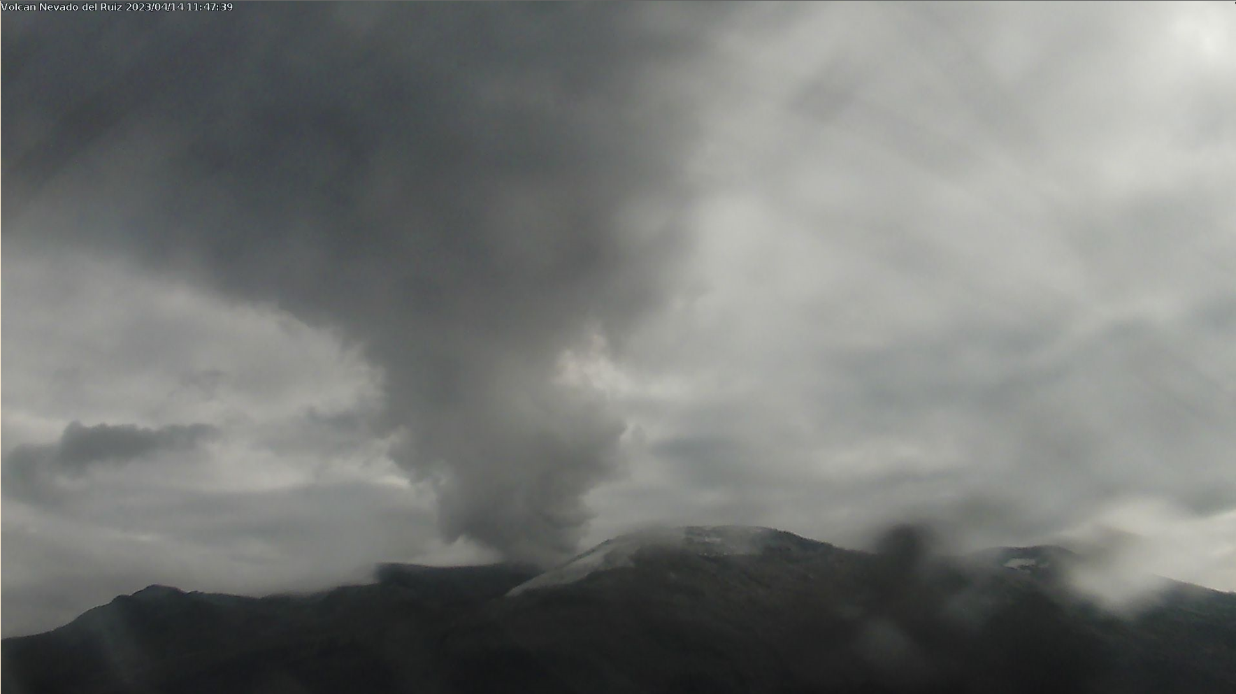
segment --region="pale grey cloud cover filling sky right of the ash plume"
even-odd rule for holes
[[[648,433],[593,495],[607,526],[653,508],[850,542],[937,519],[979,547],[1149,499],[1230,536],[1234,21],[915,4],[728,25],[748,51],[693,162],[695,291],[616,389]]]

